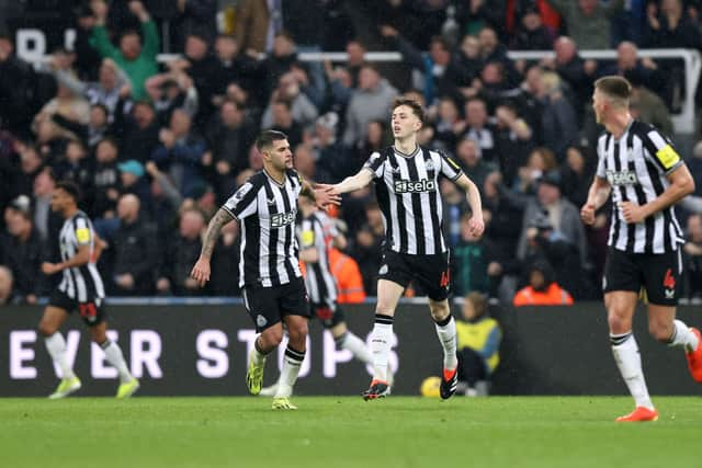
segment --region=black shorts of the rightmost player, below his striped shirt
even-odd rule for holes
[[[609,248],[602,292],[646,290],[648,303],[677,306],[682,261],[680,250],[666,253],[626,253]]]

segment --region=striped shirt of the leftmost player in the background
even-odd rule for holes
[[[64,262],[75,256],[79,248],[90,246],[90,262],[81,266],[65,269],[63,271],[64,277],[58,285],[59,290],[78,303],[91,303],[105,297],[102,278],[92,260],[94,241],[92,222],[83,212],[78,212],[66,219],[58,235],[58,244]]]

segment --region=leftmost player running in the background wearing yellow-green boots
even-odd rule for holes
[[[105,293],[95,266],[103,243],[95,236],[88,216],[78,209],[78,187],[72,182],[57,183],[52,194],[52,209],[65,219],[59,233],[61,262],[45,262],[42,272],[47,275],[61,272],[64,277],[44,309],[38,329],[63,376],[58,388],[48,398],[64,398],[81,387],[66,355],[66,340],[58,331],[75,309],[88,326],[92,341],[102,347],[107,362],[117,369],[121,384],[116,397],[128,398],[139,388],[139,381],[127,369],[117,343],[107,339],[102,308]]]

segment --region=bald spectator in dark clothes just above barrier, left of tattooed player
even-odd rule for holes
[[[200,256],[201,236],[205,228],[205,217],[195,208],[183,210],[178,232],[167,239],[165,254],[156,288],[160,294],[176,296],[199,296],[200,285],[190,276],[190,271]]]

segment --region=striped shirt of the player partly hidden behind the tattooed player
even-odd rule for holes
[[[297,241],[302,250],[315,249],[317,262],[305,263],[305,287],[314,305],[325,305],[336,308],[337,281],[329,267],[330,241],[337,236],[336,227],[327,215],[321,212],[313,213],[303,218],[297,230]]]

